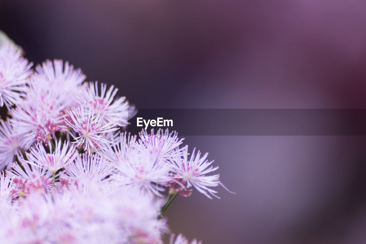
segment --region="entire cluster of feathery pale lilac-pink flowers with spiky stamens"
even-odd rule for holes
[[[0,46],[4,243],[159,244],[177,195],[217,197],[219,175],[208,174],[218,167],[190,155],[176,132],[120,133],[136,110],[113,86],[85,82],[62,60],[31,66],[15,46]],[[169,244],[188,241],[172,234]]]

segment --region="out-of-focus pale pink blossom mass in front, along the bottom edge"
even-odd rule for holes
[[[76,188],[30,193],[0,213],[4,243],[149,243],[163,244],[168,231],[157,219],[156,201],[147,195],[114,188],[84,194]]]

